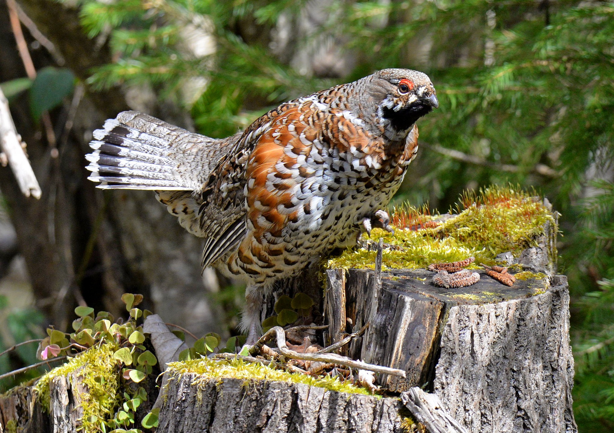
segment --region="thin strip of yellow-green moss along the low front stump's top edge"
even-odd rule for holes
[[[258,364],[256,362],[244,362],[242,359],[194,359],[184,362],[170,362],[166,372],[170,377],[179,377],[184,374],[198,374],[204,379],[211,378],[236,378],[246,380],[278,380],[290,381],[295,383],[304,383],[309,386],[317,386],[330,391],[339,391],[341,393],[354,393],[372,395],[369,391],[361,386],[342,383],[337,378],[331,377],[311,377],[305,374],[288,373],[284,370],[274,369],[270,366]],[[193,385],[198,385],[199,381],[195,381]]]

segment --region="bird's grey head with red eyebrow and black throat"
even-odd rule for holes
[[[416,120],[439,106],[429,76],[411,69],[383,69],[370,75],[369,97],[377,104],[380,126],[408,131]]]

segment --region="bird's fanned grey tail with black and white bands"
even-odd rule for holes
[[[98,188],[195,190],[198,182],[181,169],[177,145],[195,136],[155,117],[125,111],[93,132],[93,152],[85,155],[88,179]]]

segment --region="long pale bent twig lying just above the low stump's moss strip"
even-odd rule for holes
[[[390,367],[375,366],[362,361],[354,361],[354,359],[346,358],[336,353],[317,354],[317,353],[298,353],[290,350],[286,345],[286,333],[281,326],[274,326],[269,329],[265,335],[255,343],[254,347],[249,351],[250,354],[256,353],[262,345],[268,340],[276,337],[277,347],[284,356],[292,359],[301,359],[302,361],[330,362],[331,364],[339,364],[340,366],[351,367],[359,370],[369,370],[381,374],[389,374],[392,376],[405,377],[405,370],[392,369]]]

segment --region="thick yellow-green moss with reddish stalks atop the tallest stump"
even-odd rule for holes
[[[406,212],[403,209],[399,212]],[[383,238],[384,243],[397,247],[384,249],[382,268],[424,268],[435,262],[453,262],[474,256],[475,264],[470,269],[476,269],[480,263],[495,264],[494,258],[500,253],[511,251],[518,256],[535,244],[535,238],[544,233],[547,221],[555,223],[541,201],[511,187],[494,186],[477,195],[465,194],[457,212],[459,215],[436,228],[416,231],[397,227],[394,235],[373,229],[372,242]],[[416,217],[393,215],[392,220],[414,221]],[[330,259],[327,267],[373,269],[375,255],[375,251],[365,248],[346,250],[341,256]]]

